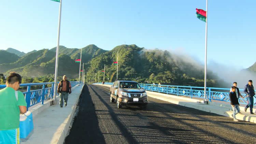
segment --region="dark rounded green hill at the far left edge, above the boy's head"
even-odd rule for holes
[[[0,64],[12,63],[17,61],[18,59],[19,59],[19,56],[17,55],[4,50],[0,50]],[[1,68],[0,68],[0,71],[1,71]]]

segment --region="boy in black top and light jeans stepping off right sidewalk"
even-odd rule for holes
[[[234,121],[238,121],[237,118],[236,118],[236,114],[238,114],[240,112],[240,108],[239,108],[239,102],[238,102],[238,99],[237,99],[237,94],[236,94],[236,87],[235,86],[232,86],[232,91],[229,93],[229,99],[230,99],[230,104],[232,105],[232,109],[233,109],[233,118],[234,118]],[[236,112],[237,110],[237,112]]]

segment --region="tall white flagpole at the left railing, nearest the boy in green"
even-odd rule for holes
[[[54,95],[53,95],[53,100],[56,99],[56,93],[57,93],[57,75],[58,75],[58,63],[59,63],[59,35],[60,35],[61,1],[62,1],[62,0],[60,0],[60,4],[59,4],[59,26],[58,26],[57,48],[56,48],[56,63],[55,63]]]

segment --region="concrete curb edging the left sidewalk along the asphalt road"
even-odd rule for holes
[[[54,138],[56,137],[57,141],[56,141],[56,139],[53,138],[52,141],[51,141],[51,144],[63,144],[63,143],[64,143],[65,138],[66,138],[66,136],[67,136],[67,134],[68,134],[69,127],[70,127],[70,125],[71,125],[71,121],[72,121],[73,116],[74,116],[74,113],[75,113],[75,109],[76,109],[76,106],[77,106],[77,102],[78,102],[78,100],[79,100],[79,98],[80,98],[80,95],[81,95],[81,93],[82,93],[83,87],[84,87],[84,85],[82,86],[82,89],[81,89],[81,91],[80,91],[80,93],[79,93],[79,96],[76,98],[75,104],[72,106],[72,111],[71,111],[70,115],[69,115],[68,118],[60,125],[60,127],[59,127],[59,128],[57,129],[57,131],[56,131],[56,132],[61,131],[61,133],[55,133],[55,134],[54,134]],[[75,87],[74,87],[74,88],[75,88]]]

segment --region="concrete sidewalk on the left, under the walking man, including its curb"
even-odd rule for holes
[[[26,139],[21,139],[21,144],[63,144],[82,88],[83,85],[80,85],[72,89],[67,106],[64,105],[60,108],[57,97],[57,101],[53,105],[48,106],[40,113],[36,114],[32,111],[34,129]]]

